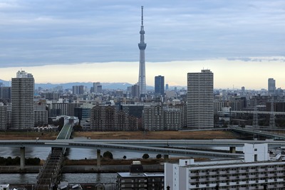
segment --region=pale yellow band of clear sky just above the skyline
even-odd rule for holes
[[[241,67],[242,65],[242,67]],[[274,66],[272,66],[274,65]],[[33,74],[35,83],[130,83],[138,82],[138,62],[77,63],[24,68],[0,68],[1,80],[11,80],[18,70]],[[209,60],[146,62],[146,83],[154,85],[156,75],[165,76],[165,84],[187,86],[187,73],[209,69],[214,73],[214,88],[267,89],[268,78],[276,88],[285,88],[285,57],[216,58]]]

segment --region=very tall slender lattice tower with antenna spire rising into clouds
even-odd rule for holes
[[[143,6],[142,6],[142,25],[140,26],[140,43],[138,48],[140,49],[140,69],[138,75],[138,85],[140,86],[140,95],[146,94],[146,83],[145,83],[145,31],[143,28]]]

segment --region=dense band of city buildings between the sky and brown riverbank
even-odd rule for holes
[[[21,70],[16,76],[11,80],[11,87],[0,87],[1,130],[51,127],[51,118],[56,120],[61,115],[77,117],[78,125],[87,131],[285,125],[284,116],[275,113],[285,112],[284,91],[276,89],[273,78],[268,79],[267,90],[245,90],[244,87],[240,90],[214,90],[213,73],[202,70],[201,73],[188,73],[187,89],[170,90],[165,78],[157,75],[155,90],[141,94],[138,85],[112,90],[104,89],[100,82],[93,83],[91,88],[74,85],[72,89],[58,86],[34,90],[33,75]],[[203,83],[199,81],[201,78]],[[25,101],[21,101],[23,96]],[[260,111],[258,122],[254,121],[254,111]],[[272,114],[274,122],[270,117]]]

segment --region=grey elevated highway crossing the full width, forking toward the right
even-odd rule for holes
[[[206,147],[244,147],[245,143],[266,143],[269,148],[285,147],[285,141],[276,140],[237,140],[237,139],[130,139],[130,140],[93,140],[93,139],[56,139],[56,140],[1,140],[0,147],[53,147],[83,149],[120,149],[130,152],[147,152],[187,157],[243,157],[243,154],[212,152],[188,148]],[[99,157],[100,158],[100,157]]]

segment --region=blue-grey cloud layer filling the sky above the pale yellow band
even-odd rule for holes
[[[0,67],[14,68],[12,78],[20,68],[31,73],[28,67],[34,66],[138,63],[142,5],[148,65],[285,56],[284,0],[0,0]],[[257,65],[246,63],[253,64],[252,70]],[[138,75],[138,68],[129,72]],[[264,72],[281,77],[274,70]]]

